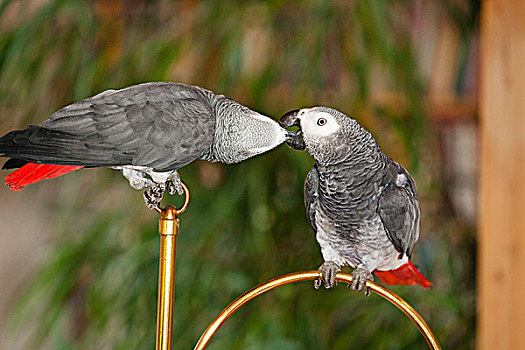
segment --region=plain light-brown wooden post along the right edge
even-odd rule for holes
[[[482,12],[479,349],[525,348],[525,1]]]

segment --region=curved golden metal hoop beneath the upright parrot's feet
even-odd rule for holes
[[[271,279],[265,283],[258,285],[257,287],[251,289],[245,294],[241,295],[239,298],[235,299],[228,307],[226,307],[220,314],[213,320],[213,322],[208,326],[208,328],[202,333],[201,338],[195,345],[195,350],[203,350],[208,346],[211,341],[211,338],[215,335],[219,327],[228,319],[235,311],[241,308],[244,304],[252,300],[253,298],[264,294],[272,289],[283,286],[285,284],[300,282],[300,281],[309,281],[321,277],[319,271],[304,271],[304,272],[295,272],[281,277]],[[346,273],[338,273],[335,276],[335,280],[339,282],[352,282],[352,275]],[[417,313],[412,306],[410,306],[404,299],[399,297],[397,294],[391,292],[390,290],[375,284],[374,282],[367,281],[367,287],[376,293],[377,295],[385,298],[392,304],[394,304],[399,310],[403,311],[405,315],[417,326],[430,349],[441,350],[441,346],[437,341],[434,334],[428,327],[427,323],[423,318]]]

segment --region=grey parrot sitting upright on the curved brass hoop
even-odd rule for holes
[[[322,281],[331,288],[341,266],[353,270],[361,291],[372,272],[388,284],[431,285],[412,263],[419,237],[419,204],[410,174],[385,155],[354,119],[326,107],[288,112],[283,127],[297,126],[290,147],[317,161],[306,177],[306,216],[321,246]],[[367,289],[366,293],[369,293]]]

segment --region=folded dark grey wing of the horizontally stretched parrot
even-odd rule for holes
[[[178,83],[105,91],[12,134],[4,153],[40,163],[176,169],[211,146],[213,100],[208,90]]]

